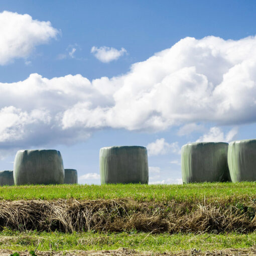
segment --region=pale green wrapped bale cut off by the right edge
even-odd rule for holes
[[[229,143],[228,167],[232,182],[256,181],[256,140]]]

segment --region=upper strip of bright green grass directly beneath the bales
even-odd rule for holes
[[[187,185],[27,185],[0,188],[0,200],[95,200],[131,198],[137,201],[247,201],[256,198],[256,183],[197,183]]]

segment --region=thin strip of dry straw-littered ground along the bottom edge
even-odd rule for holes
[[[9,256],[13,251],[11,250],[0,250],[1,256]],[[19,252],[20,256],[29,256],[28,251]],[[102,250],[102,251],[37,251],[38,256],[250,256],[256,255],[256,248],[252,247],[249,249],[224,249],[215,251],[200,251],[200,250],[183,250],[178,252],[150,252],[150,251],[136,251],[133,249],[120,248],[117,250]]]

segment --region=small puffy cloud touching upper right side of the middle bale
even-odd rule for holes
[[[169,152],[179,152],[178,142],[167,143],[164,138],[157,139],[147,146],[149,156],[165,155]]]

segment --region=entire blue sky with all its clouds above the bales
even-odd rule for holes
[[[0,3],[0,170],[56,149],[99,184],[99,149],[145,146],[181,183],[190,142],[256,138],[256,2]]]

